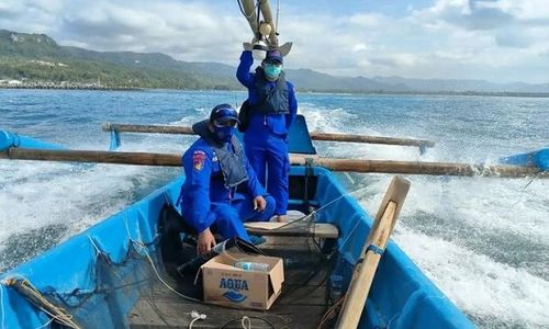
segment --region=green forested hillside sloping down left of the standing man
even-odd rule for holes
[[[236,89],[163,54],[100,53],[64,47],[43,34],[0,30],[0,79],[97,83],[112,88]]]

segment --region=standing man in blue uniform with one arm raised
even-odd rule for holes
[[[298,100],[292,83],[284,80],[283,59],[278,49],[267,52],[261,66],[250,72],[250,49],[240,55],[236,78],[248,89],[240,111],[249,122],[244,134],[246,156],[259,181],[267,188],[277,206],[277,220],[283,222],[288,209],[290,160],[288,131],[298,114]]]

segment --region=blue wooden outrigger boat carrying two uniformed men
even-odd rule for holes
[[[315,151],[304,120],[298,122],[302,129],[292,133],[291,149],[311,157]],[[26,148],[63,152],[59,146],[0,132],[1,157]],[[547,154],[507,160],[535,159],[544,164]],[[296,215],[291,219],[300,220],[283,229],[255,231],[267,237],[259,246],[266,253],[284,259],[282,294],[268,311],[200,303],[193,277],[173,272],[177,262],[194,257],[194,248],[181,249],[176,259],[166,246],[181,246],[182,236],[177,241],[168,239],[159,218],[175,204],[183,180],[176,179],[1,274],[1,328],[57,328],[56,324],[74,328],[240,328],[246,324],[318,328],[336,324],[332,306],[343,300],[338,297],[346,294],[351,277],[355,281],[354,268],[365,259],[365,241],[374,231],[374,220],[329,170],[313,161],[292,166],[290,209]],[[359,328],[473,327],[399,246],[390,241],[383,249],[368,299],[362,300],[366,306],[358,313]]]

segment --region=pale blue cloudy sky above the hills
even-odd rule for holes
[[[0,0],[0,29],[232,66],[253,37],[236,0]],[[278,30],[287,68],[549,82],[549,0],[280,0]]]

